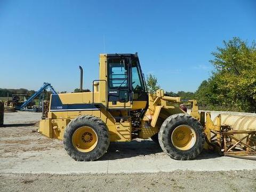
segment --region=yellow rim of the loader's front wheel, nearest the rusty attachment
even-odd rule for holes
[[[175,148],[188,150],[196,143],[196,132],[188,125],[180,125],[173,130],[171,139]]]

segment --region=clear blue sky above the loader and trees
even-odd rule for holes
[[[256,1],[0,0],[0,87],[70,92],[81,65],[92,89],[99,53],[138,52],[165,91],[196,91],[234,36],[256,39]]]

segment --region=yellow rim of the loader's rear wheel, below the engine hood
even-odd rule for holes
[[[78,151],[87,153],[97,146],[98,136],[89,126],[79,127],[72,136],[72,143]]]

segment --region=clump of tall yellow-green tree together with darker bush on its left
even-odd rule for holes
[[[256,111],[256,46],[238,37],[212,52],[212,76],[196,92],[199,102],[220,110]]]

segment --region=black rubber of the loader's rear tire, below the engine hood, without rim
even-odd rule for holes
[[[73,134],[79,127],[89,126],[97,134],[98,142],[96,147],[85,153],[77,150],[73,145]],[[82,135],[81,135],[82,136]],[[76,161],[95,161],[106,153],[109,147],[109,135],[106,124],[99,118],[84,115],[69,122],[63,136],[63,145],[68,155]]]

